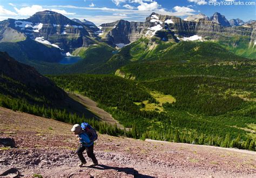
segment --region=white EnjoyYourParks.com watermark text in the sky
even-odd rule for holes
[[[235,0],[212,0],[208,1],[208,5],[221,6],[221,5],[256,5],[255,1],[235,1]]]

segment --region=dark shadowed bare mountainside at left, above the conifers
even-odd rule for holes
[[[36,102],[44,100],[63,100],[66,95],[48,78],[41,76],[35,69],[19,63],[8,53],[0,52],[1,93],[14,98],[28,97]],[[24,92],[24,93],[23,93]],[[27,95],[28,94],[28,95]]]

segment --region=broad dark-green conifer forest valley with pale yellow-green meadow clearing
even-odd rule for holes
[[[96,102],[131,138],[255,149],[255,80],[173,76],[133,81],[110,75],[49,76]],[[250,146],[251,145],[251,146]]]

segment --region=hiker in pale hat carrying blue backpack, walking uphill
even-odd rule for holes
[[[87,155],[89,158],[92,159],[93,164],[90,166],[97,166],[98,165],[98,161],[95,157],[95,154],[93,153],[93,141],[90,140],[89,135],[82,129],[82,127],[79,124],[75,124],[73,125],[72,132],[74,132],[74,134],[78,135],[79,141],[80,141],[80,145],[77,149],[77,155],[78,158],[80,159],[81,163],[78,164],[79,167],[82,167],[83,165],[86,164],[86,160],[83,156],[83,152],[86,149]]]

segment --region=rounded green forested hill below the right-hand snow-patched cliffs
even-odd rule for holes
[[[161,40],[149,40],[140,38],[137,42],[126,45],[114,54],[105,64],[92,70],[91,73],[113,73],[119,67],[138,64],[142,61],[170,61],[170,63],[194,63],[217,61],[242,61],[246,58],[229,52],[217,43],[211,42],[180,42],[168,43]],[[134,64],[133,64],[134,63]],[[153,67],[153,66],[152,66]],[[138,71],[139,72],[139,71]],[[158,73],[160,71],[156,71]],[[129,72],[127,72],[129,76]]]

